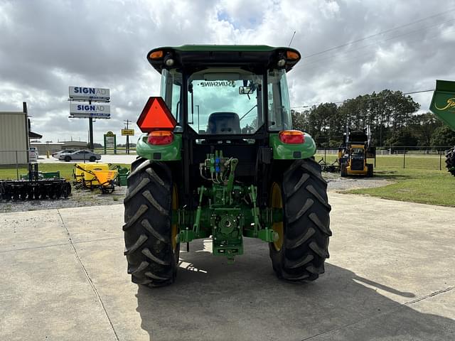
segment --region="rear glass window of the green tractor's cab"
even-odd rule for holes
[[[263,123],[262,75],[204,70],[188,80],[188,122],[198,134],[254,134]]]

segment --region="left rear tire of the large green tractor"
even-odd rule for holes
[[[177,192],[171,171],[164,163],[138,158],[132,164],[124,199],[123,226],[128,274],[132,282],[146,286],[173,283],[180,245],[171,213]]]

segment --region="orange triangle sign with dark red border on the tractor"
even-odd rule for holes
[[[137,125],[142,132],[149,133],[154,130],[173,130],[177,122],[162,97],[149,97]]]

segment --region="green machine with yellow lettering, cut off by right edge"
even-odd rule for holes
[[[451,129],[455,130],[455,82],[437,80],[432,104],[429,108]],[[451,175],[455,176],[455,146],[446,153],[446,167]]]

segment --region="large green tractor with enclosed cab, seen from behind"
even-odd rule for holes
[[[181,244],[212,238],[229,263],[243,238],[269,244],[287,281],[314,281],[328,258],[331,206],[314,140],[292,129],[286,73],[301,56],[266,45],[151,50],[161,96],[138,119],[124,199],[132,281],[176,278]]]

